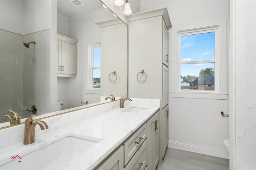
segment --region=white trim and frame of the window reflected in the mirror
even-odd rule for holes
[[[92,67],[93,65],[93,59],[92,59],[92,47],[95,47],[95,46],[100,46],[100,42],[94,42],[94,43],[89,43],[88,44],[88,53],[87,53],[87,58],[88,58],[88,70],[87,70],[87,77],[88,77],[88,80],[87,80],[87,89],[86,90],[86,93],[90,93],[90,91],[94,91],[92,93],[96,94],[97,92],[95,91],[100,91],[100,88],[92,88],[92,69],[94,68],[100,68],[100,67]]]

